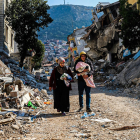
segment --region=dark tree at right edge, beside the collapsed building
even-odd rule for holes
[[[135,50],[136,47],[140,46],[139,13],[128,3],[128,0],[120,0],[120,14],[123,18],[120,37],[123,40],[123,45],[130,50]]]

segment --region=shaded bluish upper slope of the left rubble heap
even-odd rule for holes
[[[7,65],[4,65],[4,63]],[[1,65],[1,70],[0,70],[0,75],[2,77],[5,76],[11,76],[14,77],[15,79],[20,79],[24,85],[31,86],[31,88],[38,88],[40,90],[42,89],[48,89],[47,86],[42,83],[38,83],[35,79],[35,75],[30,74],[28,70],[26,69],[21,69],[18,66],[18,62],[14,61],[11,58],[4,58],[0,61]]]

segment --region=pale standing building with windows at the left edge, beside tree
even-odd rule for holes
[[[0,0],[0,53],[7,56],[17,51],[15,32],[5,20],[5,10],[10,2],[11,0]]]

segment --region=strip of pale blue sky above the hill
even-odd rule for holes
[[[66,4],[73,4],[73,5],[84,5],[84,6],[93,6],[95,7],[98,2],[116,2],[117,0],[65,0]],[[48,0],[48,4],[52,5],[60,5],[64,4],[64,0]]]

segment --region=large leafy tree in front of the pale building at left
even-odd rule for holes
[[[48,27],[53,21],[47,12],[49,9],[47,1],[43,0],[13,0],[6,9],[6,20],[16,33],[21,67],[28,49],[38,50],[35,48],[38,43],[37,31]]]

